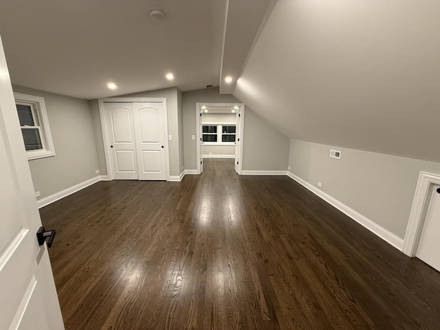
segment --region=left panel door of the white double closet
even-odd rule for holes
[[[105,102],[113,179],[138,179],[133,103]]]

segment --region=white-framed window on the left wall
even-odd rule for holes
[[[55,155],[44,98],[14,93],[28,159]]]

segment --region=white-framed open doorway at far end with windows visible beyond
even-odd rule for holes
[[[243,103],[196,103],[197,174],[203,173],[203,159],[234,159],[241,174],[243,159]]]

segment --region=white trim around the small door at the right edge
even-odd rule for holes
[[[415,256],[417,252],[421,230],[428,211],[430,201],[428,197],[434,184],[440,184],[440,175],[420,172],[405,234],[403,252],[408,256]]]

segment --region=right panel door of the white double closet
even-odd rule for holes
[[[134,102],[137,168],[140,180],[166,180],[163,102]]]

